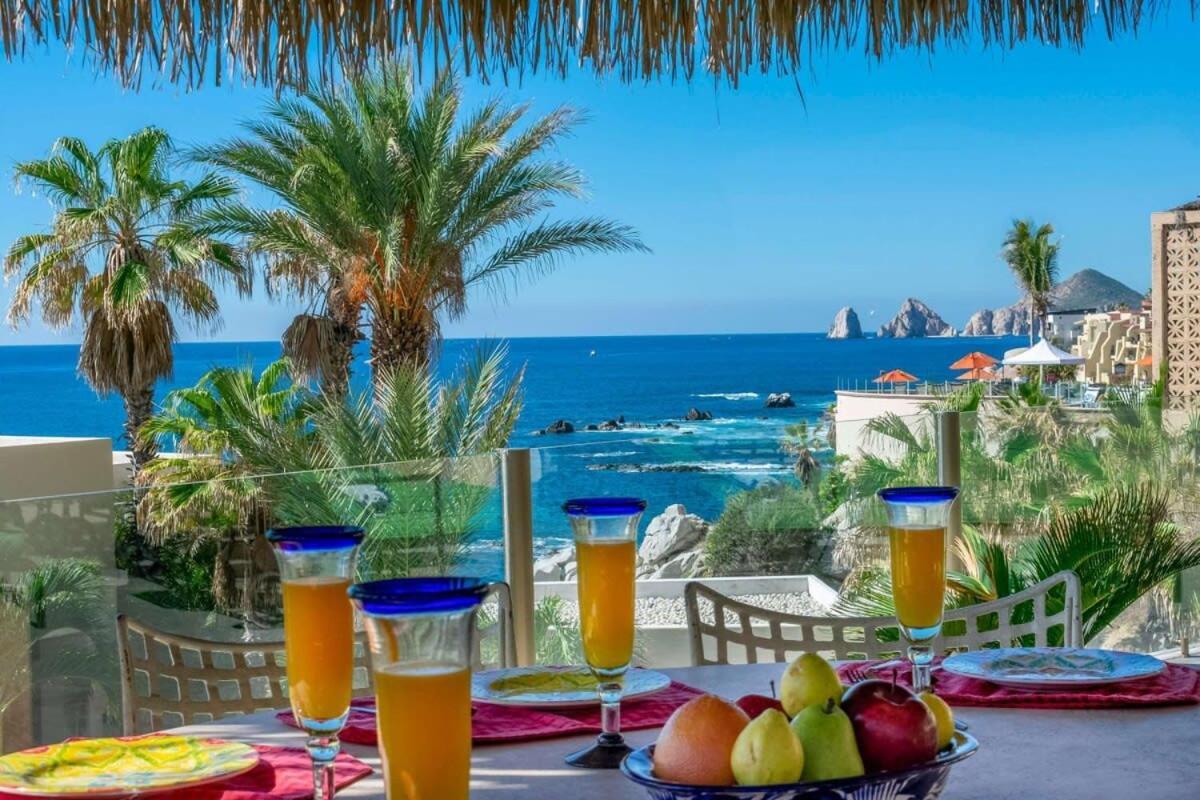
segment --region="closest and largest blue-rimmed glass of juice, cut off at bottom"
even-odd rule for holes
[[[367,624],[388,800],[467,800],[478,578],[392,578],[350,587]]]

